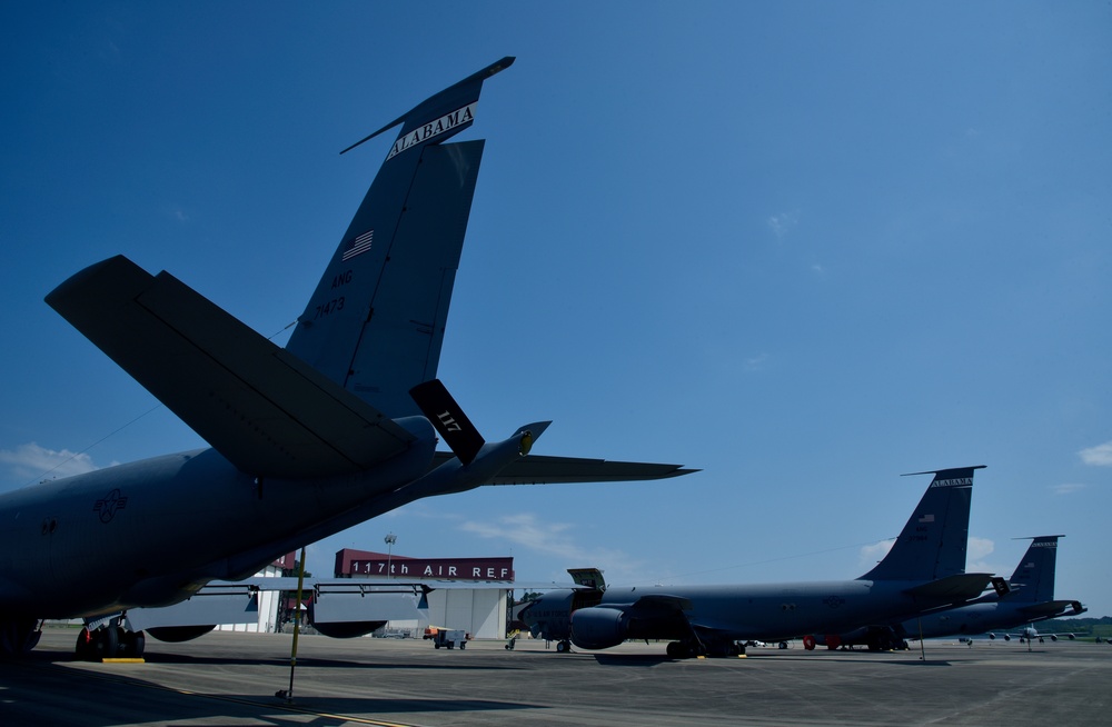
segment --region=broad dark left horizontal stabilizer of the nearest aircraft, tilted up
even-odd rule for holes
[[[167,272],[123,256],[47,302],[244,472],[356,472],[413,436]]]

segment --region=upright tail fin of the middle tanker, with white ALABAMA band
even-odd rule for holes
[[[931,486],[892,549],[858,580],[934,580],[964,574],[973,472],[983,467],[933,472]]]

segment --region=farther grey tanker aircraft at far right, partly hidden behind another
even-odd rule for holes
[[[1009,579],[1010,590],[1001,596],[992,592],[975,602],[930,614],[891,627],[874,626],[851,634],[843,634],[837,641],[843,646],[865,644],[878,648],[882,643],[906,646],[906,639],[972,636],[999,629],[1020,628],[1027,624],[1061,616],[1079,616],[1088,609],[1076,600],[1054,599],[1054,569],[1058,560],[1058,540],[1065,536],[1044,535],[1031,539],[1026,554]],[[1027,629],[1025,629],[1026,631]],[[1005,634],[1004,639],[1039,638],[1033,628],[1027,634]],[[1072,634],[1046,634],[1073,638]],[[996,638],[989,634],[989,638]],[[827,644],[830,646],[830,644]]]

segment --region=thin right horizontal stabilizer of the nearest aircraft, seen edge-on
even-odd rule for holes
[[[433,468],[455,457],[451,452],[436,452]],[[647,462],[619,462],[607,459],[579,457],[546,457],[529,455],[507,465],[492,485],[559,485],[567,482],[624,482],[666,479],[697,472],[681,465]]]

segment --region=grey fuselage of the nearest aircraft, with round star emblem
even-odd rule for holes
[[[0,495],[6,616],[73,618],[187,598],[214,578],[254,574],[312,538],[396,507],[435,448],[417,440],[356,475],[255,478],[214,449],[167,455]]]

